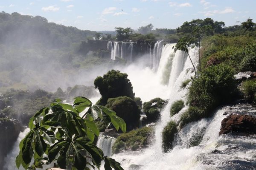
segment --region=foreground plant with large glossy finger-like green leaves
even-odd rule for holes
[[[89,109],[80,117],[85,108]],[[85,97],[74,98],[73,105],[55,99],[30,119],[30,131],[20,142],[17,167],[22,165],[26,170],[36,170],[53,162],[54,167],[89,170],[89,167],[99,169],[104,160],[106,170],[111,170],[111,167],[123,170],[118,162],[104,156],[102,150],[93,144],[94,136],[99,136],[99,129],[94,123],[92,110],[107,127],[113,124],[116,130],[126,131],[124,120],[114,111],[100,105],[92,106],[92,102]]]

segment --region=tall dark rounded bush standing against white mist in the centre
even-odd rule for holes
[[[133,87],[127,77],[127,74],[116,70],[108,71],[103,77],[97,77],[94,80],[94,85],[102,95],[102,100],[99,104],[106,105],[108,98],[119,96],[128,96],[134,99]]]

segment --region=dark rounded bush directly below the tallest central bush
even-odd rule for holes
[[[138,126],[140,110],[136,102],[130,97],[109,98],[106,107],[115,111],[117,116],[124,119],[128,129]]]

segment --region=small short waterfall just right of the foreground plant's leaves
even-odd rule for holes
[[[105,136],[100,134],[97,141],[97,147],[101,148],[105,156],[112,155],[112,146],[116,139],[111,136]]]

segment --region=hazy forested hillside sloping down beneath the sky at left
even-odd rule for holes
[[[0,13],[0,44],[62,48],[87,40],[94,34],[95,31],[50,23],[40,16]]]

